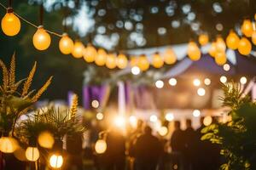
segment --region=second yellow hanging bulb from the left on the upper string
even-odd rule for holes
[[[49,48],[50,36],[47,31],[44,30],[44,26],[38,26],[38,31],[33,35],[33,45],[38,50],[45,50]]]

